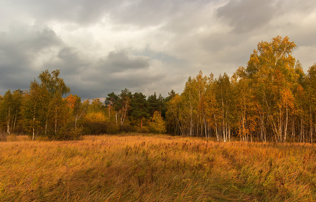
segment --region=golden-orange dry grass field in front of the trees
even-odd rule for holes
[[[0,142],[0,201],[315,201],[311,144],[84,136]]]

